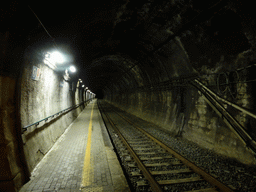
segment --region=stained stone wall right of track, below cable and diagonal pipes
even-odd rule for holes
[[[223,122],[194,88],[114,95],[106,101],[169,132],[218,154],[255,164],[240,138]],[[241,92],[242,94],[242,92]],[[247,93],[244,93],[247,94]],[[183,101],[182,101],[183,100]],[[237,119],[244,118],[237,115]]]

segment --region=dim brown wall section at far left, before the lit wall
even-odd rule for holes
[[[0,76],[0,191],[17,191],[25,182],[16,87],[15,78]]]

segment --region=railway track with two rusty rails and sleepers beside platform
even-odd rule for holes
[[[99,108],[136,191],[233,191],[113,108]]]

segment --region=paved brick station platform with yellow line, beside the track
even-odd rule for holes
[[[97,100],[67,128],[30,179],[20,192],[130,191]]]

